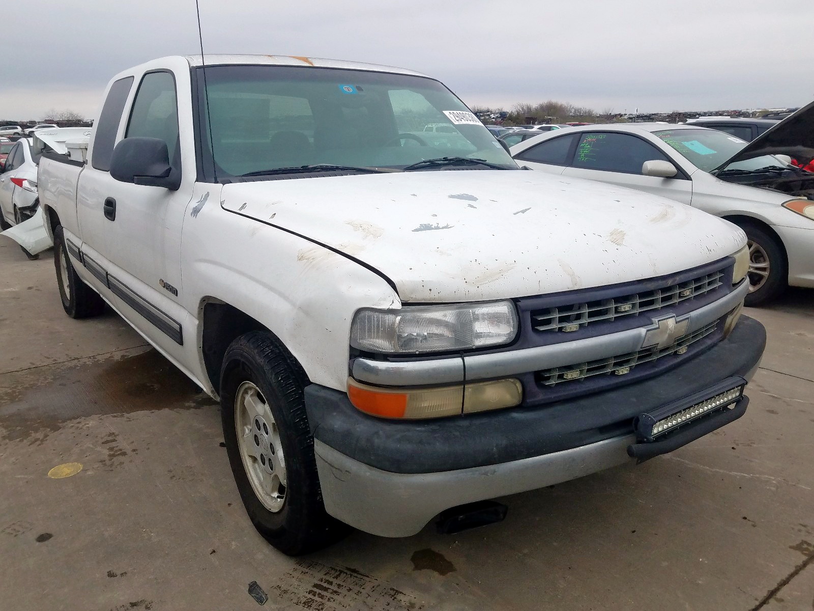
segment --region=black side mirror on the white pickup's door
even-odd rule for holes
[[[110,175],[120,182],[177,191],[181,173],[169,165],[167,143],[159,138],[125,138],[116,144]]]

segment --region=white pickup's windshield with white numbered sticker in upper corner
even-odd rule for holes
[[[201,68],[197,77],[203,92]],[[208,99],[199,93],[198,100],[201,140],[218,179],[304,165],[398,171],[445,156],[517,169],[464,103],[430,78],[336,68],[221,65],[206,68],[205,83]],[[420,167],[433,170],[441,165]],[[461,163],[444,166],[480,167],[489,169]]]

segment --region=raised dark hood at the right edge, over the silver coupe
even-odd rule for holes
[[[761,155],[814,157],[814,102],[787,116],[748,143],[716,169]]]

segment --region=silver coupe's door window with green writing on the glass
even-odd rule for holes
[[[652,160],[669,161],[659,149],[636,136],[584,132],[571,165],[582,169],[641,174],[641,165]]]

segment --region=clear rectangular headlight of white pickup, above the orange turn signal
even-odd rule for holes
[[[517,334],[511,301],[359,310],[351,345],[366,352],[418,354],[507,344]]]

